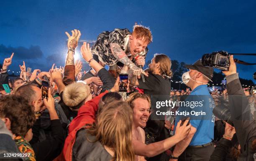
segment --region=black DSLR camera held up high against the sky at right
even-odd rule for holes
[[[230,66],[230,55],[227,51],[217,51],[211,54],[204,54],[201,58],[201,62],[204,66],[212,66],[214,68],[228,71]]]

